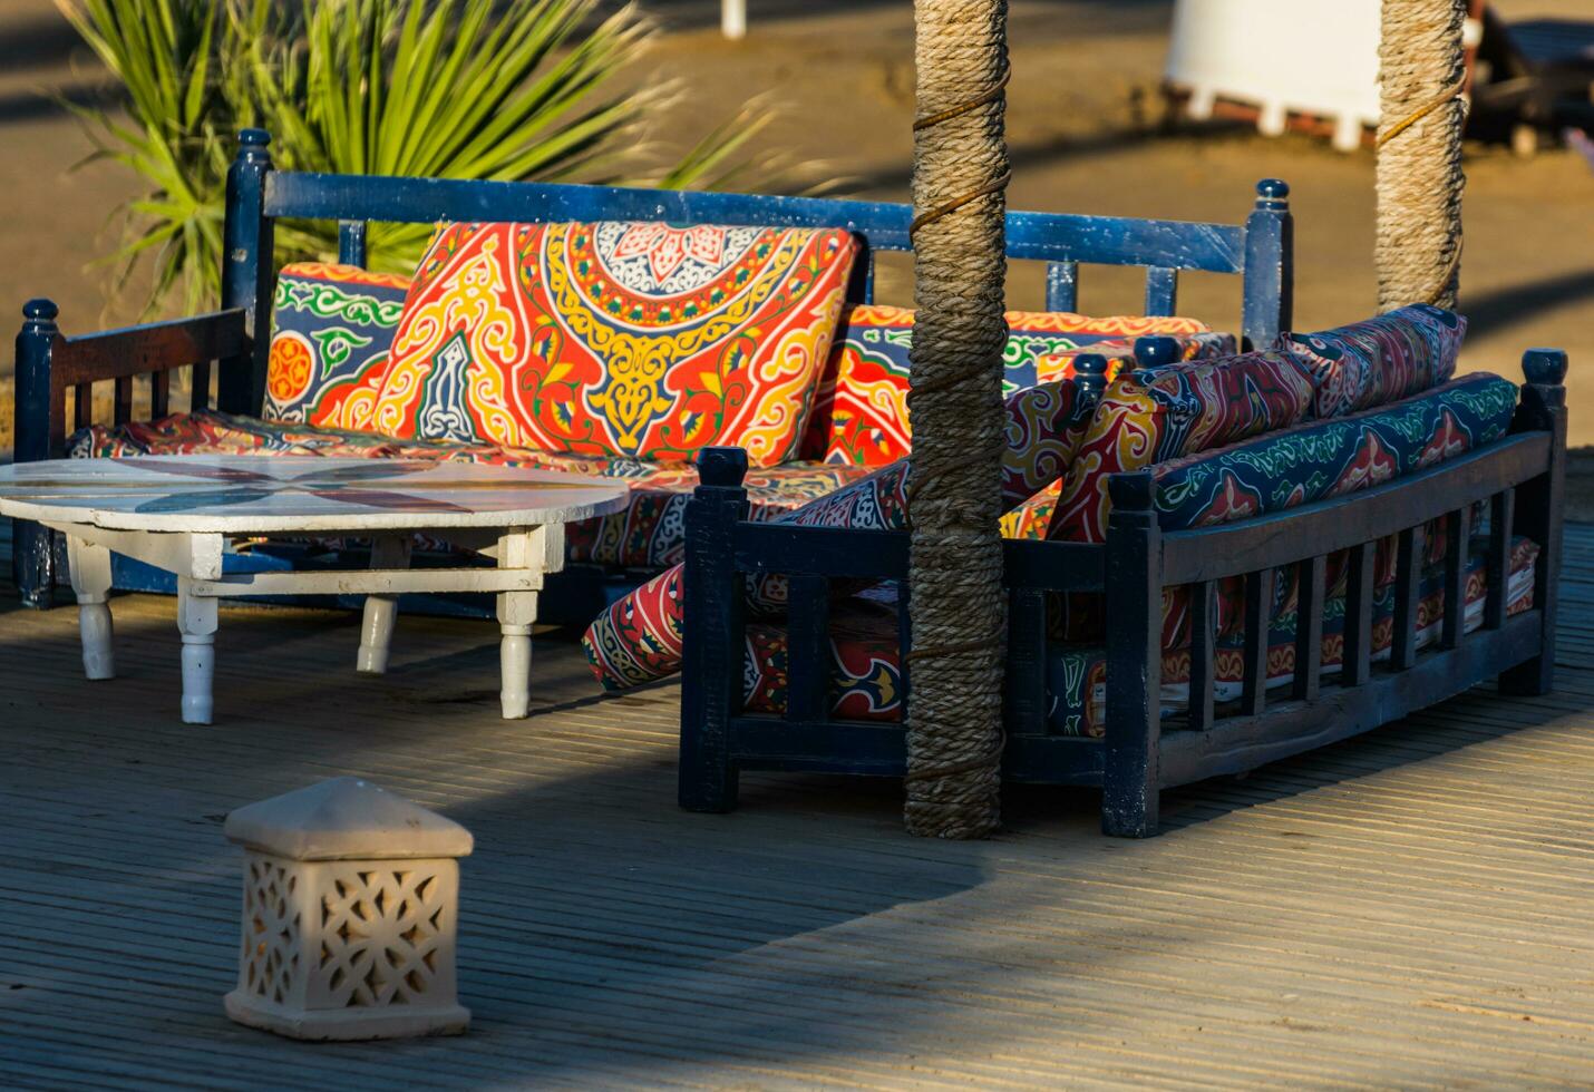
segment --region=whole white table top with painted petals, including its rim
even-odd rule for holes
[[[167,454],[0,467],[0,515],[112,531],[542,526],[625,505],[626,488],[603,478],[429,459]]]

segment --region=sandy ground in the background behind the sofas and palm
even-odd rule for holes
[[[905,0],[751,0],[752,30],[740,43],[717,35],[714,5],[705,0],[644,6],[668,27],[652,73],[685,81],[681,102],[660,116],[660,132],[685,139],[749,96],[767,94],[779,120],[760,137],[762,150],[859,196],[907,198],[913,67]],[[1588,13],[1586,0],[1497,6],[1508,16]],[[1014,2],[1012,207],[1237,222],[1258,179],[1283,177],[1296,210],[1298,328],[1371,314],[1371,153],[1341,155],[1304,137],[1267,140],[1234,126],[1164,131],[1156,86],[1168,11],[1160,0]],[[11,301],[3,304],[10,309],[49,295],[69,333],[131,317],[128,303],[108,293],[110,271],[89,263],[110,249],[107,214],[134,185],[112,163],[69,172],[88,143],[40,91],[91,99],[102,88],[104,75],[73,48],[49,0],[0,0],[0,191],[8,210],[0,301]],[[1594,174],[1565,151],[1517,159],[1486,147],[1468,148],[1466,171],[1462,309],[1471,333],[1463,370],[1514,376],[1522,348],[1568,349],[1573,442],[1594,443],[1594,373],[1578,371],[1580,362],[1594,362]],[[1014,263],[1012,306],[1039,306],[1041,276],[1035,263]],[[910,301],[905,260],[885,263],[880,297]],[[1086,311],[1137,311],[1140,300],[1138,273],[1084,273]],[[1239,285],[1188,276],[1180,309],[1234,328]],[[8,414],[6,395],[0,429]]]

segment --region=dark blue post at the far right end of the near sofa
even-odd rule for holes
[[[1538,655],[1500,674],[1500,693],[1548,693],[1556,676],[1556,599],[1561,582],[1561,517],[1567,473],[1567,354],[1529,349],[1522,354],[1522,402],[1514,432],[1549,432],[1549,470],[1516,491],[1516,531],[1538,544],[1533,606],[1538,609]],[[1455,547],[1452,547],[1455,548]],[[1465,547],[1463,547],[1465,548]],[[1506,542],[1510,553],[1510,542]],[[1510,574],[1510,563],[1505,566]]]

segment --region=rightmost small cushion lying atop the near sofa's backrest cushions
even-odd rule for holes
[[[1286,333],[1280,348],[1312,370],[1313,413],[1337,418],[1444,383],[1465,336],[1466,319],[1417,303],[1321,333]]]

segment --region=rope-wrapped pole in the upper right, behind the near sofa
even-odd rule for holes
[[[1462,263],[1466,0],[1384,0],[1379,40],[1379,311],[1455,308]]]

